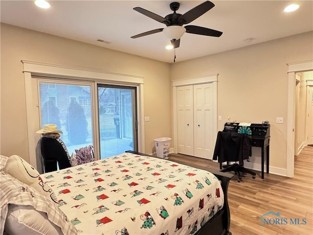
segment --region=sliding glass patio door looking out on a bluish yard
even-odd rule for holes
[[[56,124],[70,155],[88,145],[96,159],[138,151],[136,87],[33,78],[38,128]]]

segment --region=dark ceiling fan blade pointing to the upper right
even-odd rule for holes
[[[182,24],[189,24],[190,22],[196,20],[198,17],[202,16],[205,12],[213,8],[215,5],[213,2],[205,1],[200,5],[187,11],[185,14],[178,18],[178,22]]]

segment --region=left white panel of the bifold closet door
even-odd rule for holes
[[[193,86],[177,88],[178,153],[194,155]]]

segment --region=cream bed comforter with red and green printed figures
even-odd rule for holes
[[[132,153],[42,177],[82,235],[192,235],[224,204],[212,173]]]

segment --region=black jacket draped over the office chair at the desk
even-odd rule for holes
[[[251,156],[251,144],[252,140],[246,134],[219,131],[213,160],[219,163],[239,161],[239,165],[244,165],[244,160]]]

